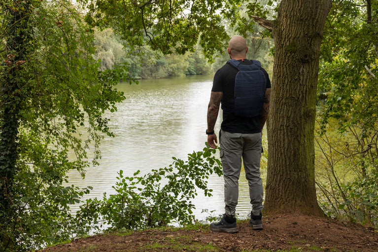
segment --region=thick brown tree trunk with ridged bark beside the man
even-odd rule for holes
[[[323,215],[314,171],[320,43],[331,0],[282,0],[268,124],[265,213]]]

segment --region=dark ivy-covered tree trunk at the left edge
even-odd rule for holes
[[[30,41],[28,22],[31,0],[14,2],[13,5],[10,1],[8,3],[3,6],[7,13],[7,36],[4,37],[7,55],[1,60],[7,71],[0,82],[0,215],[4,216],[1,221],[10,218],[10,206],[13,204],[11,189],[18,159],[19,108],[24,99],[22,87],[25,85],[21,74]]]

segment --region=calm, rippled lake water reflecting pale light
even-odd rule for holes
[[[103,192],[113,194],[117,172],[132,176],[137,170],[146,174],[151,169],[167,167],[172,157],[187,160],[187,154],[205,147],[206,111],[210,99],[212,76],[195,75],[168,79],[140,80],[139,84],[120,83],[117,89],[126,99],[117,105],[118,111],[106,114],[115,138],[105,138],[100,146],[100,166],[88,169],[84,180],[77,172],[69,174],[69,182],[79,187],[92,186],[87,198],[102,198]],[[220,114],[221,116],[221,114]],[[215,130],[220,129],[221,117]],[[242,171],[243,172],[243,171]],[[203,209],[215,210],[213,216],[224,213],[223,178],[209,178],[212,197],[202,191],[193,203],[196,218],[205,219]],[[248,185],[245,175],[240,178],[237,214],[250,213]],[[76,211],[78,206],[73,206]]]

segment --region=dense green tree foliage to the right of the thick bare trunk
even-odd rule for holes
[[[338,119],[340,130],[361,124],[376,127],[378,25],[377,1],[334,1],[325,27],[319,73],[322,113]]]

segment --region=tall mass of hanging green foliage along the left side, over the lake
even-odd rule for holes
[[[113,87],[125,71],[98,72],[93,34],[70,1],[0,8],[0,251],[24,251],[73,235],[69,204],[90,188],[63,184],[69,170],[84,176],[88,151],[97,164],[112,136],[103,112],[124,99]]]

